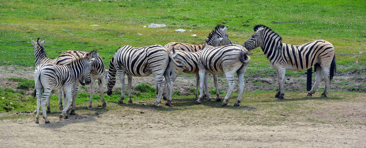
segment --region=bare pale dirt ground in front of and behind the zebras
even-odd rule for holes
[[[0,70],[0,87],[16,87],[16,83],[7,79],[9,77],[33,79],[33,68],[0,66]],[[300,79],[295,76],[287,78],[286,91],[304,89],[305,82],[301,78],[305,79],[305,76],[300,76]],[[340,77],[336,81],[352,78]],[[276,86],[274,77],[256,79],[263,85],[255,88],[256,81],[246,78],[246,91],[275,89],[272,86]],[[139,82],[154,84],[153,77],[144,77],[134,78],[133,86]],[[188,93],[186,88],[194,86],[194,82],[194,77],[180,77],[174,87],[185,94]],[[220,78],[219,85],[220,89],[226,90],[226,79]],[[210,86],[213,87],[213,84]],[[331,90],[334,89],[345,91],[332,83]],[[243,124],[245,118],[231,118],[226,108],[160,111],[109,104],[118,109],[79,110],[77,115],[61,121],[58,113],[51,113],[48,115],[50,124],[45,124],[43,118],[40,118],[41,124],[34,123],[33,114],[19,119],[0,120],[0,147],[366,147],[365,103],[330,102],[313,113],[315,117],[326,118],[331,115],[328,110],[332,109],[330,112],[347,115],[350,121],[356,118],[362,124],[314,124],[293,115],[289,118],[295,118],[297,122],[284,121],[280,125]],[[247,110],[245,107],[240,109]],[[0,113],[0,116],[4,114],[7,113]],[[258,117],[261,116],[259,113]]]

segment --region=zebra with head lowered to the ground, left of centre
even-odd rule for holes
[[[107,95],[112,94],[112,88],[116,83],[116,73],[121,80],[121,99],[123,103],[125,98],[125,74],[129,77],[129,91],[131,94],[132,76],[147,76],[153,74],[158,85],[158,95],[154,107],[160,103],[162,91],[164,88],[163,76],[169,87],[169,98],[166,103],[171,105],[172,101],[172,81],[170,74],[174,74],[175,65],[181,66],[174,61],[172,54],[167,48],[161,45],[152,45],[145,47],[131,47],[125,45],[120,47],[111,59],[107,74]],[[130,98],[131,100],[131,98]],[[131,100],[132,101],[132,100]]]

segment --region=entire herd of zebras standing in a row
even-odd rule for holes
[[[56,59],[46,56],[44,43],[40,38],[37,42],[31,39],[35,54],[35,94],[37,97],[36,123],[39,123],[39,113],[42,103],[45,123],[49,123],[46,112],[49,110],[49,97],[52,90],[60,90],[58,93],[59,109],[62,113],[60,120],[68,118],[67,111],[72,106],[70,114],[75,114],[75,100],[79,84],[85,85],[98,80],[99,94],[102,106],[106,107],[103,98],[103,84],[106,80],[107,95],[112,94],[112,88],[116,83],[116,74],[121,80],[121,99],[125,99],[125,74],[128,78],[129,103],[132,103],[132,77],[147,76],[153,74],[156,81],[157,107],[161,98],[167,100],[166,105],[172,104],[173,82],[184,73],[196,74],[196,104],[201,99],[211,99],[208,93],[208,74],[213,74],[216,87],[216,100],[221,101],[218,91],[218,74],[225,74],[229,89],[222,106],[226,106],[229,96],[235,86],[234,74],[237,74],[239,95],[234,106],[239,106],[244,89],[244,74],[249,64],[249,51],[260,46],[265,56],[277,73],[278,92],[275,97],[283,99],[284,76],[286,69],[299,71],[315,67],[316,82],[308,96],[312,96],[317,90],[321,71],[324,74],[325,89],[322,97],[326,97],[329,83],[335,73],[336,61],[334,47],[325,40],[315,40],[302,45],[290,45],[282,43],[282,38],[272,29],[257,25],[254,34],[243,45],[232,44],[226,33],[228,26],[218,25],[206,38],[205,43],[193,45],[182,42],[170,42],[165,46],[151,45],[144,47],[120,47],[112,57],[109,69],[106,70],[104,63],[97,50],[91,52],[67,51]],[[199,95],[198,95],[199,87]],[[44,93],[42,95],[42,88]],[[90,91],[90,104],[92,109],[93,86]],[[42,99],[41,99],[42,98]],[[47,110],[46,110],[47,104]]]

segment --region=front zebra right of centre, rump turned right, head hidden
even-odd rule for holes
[[[250,61],[249,51],[241,45],[230,44],[220,47],[206,46],[203,48],[199,60],[199,79],[200,79],[200,93],[196,104],[201,103],[203,96],[204,77],[208,73],[223,74],[229,83],[229,90],[226,94],[222,106],[226,106],[229,96],[234,88],[234,73],[236,72],[239,81],[239,95],[234,106],[239,106],[241,102],[241,95],[244,89],[244,74],[246,67]],[[206,90],[206,96],[209,96]]]

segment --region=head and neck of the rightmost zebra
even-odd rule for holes
[[[258,46],[262,46],[263,40],[266,37],[271,37],[277,42],[280,42],[282,40],[280,36],[278,36],[274,31],[272,31],[272,29],[268,28],[267,26],[257,25],[253,29],[254,34],[250,38],[248,38],[243,44],[243,46],[248,50],[252,50],[257,48]]]

